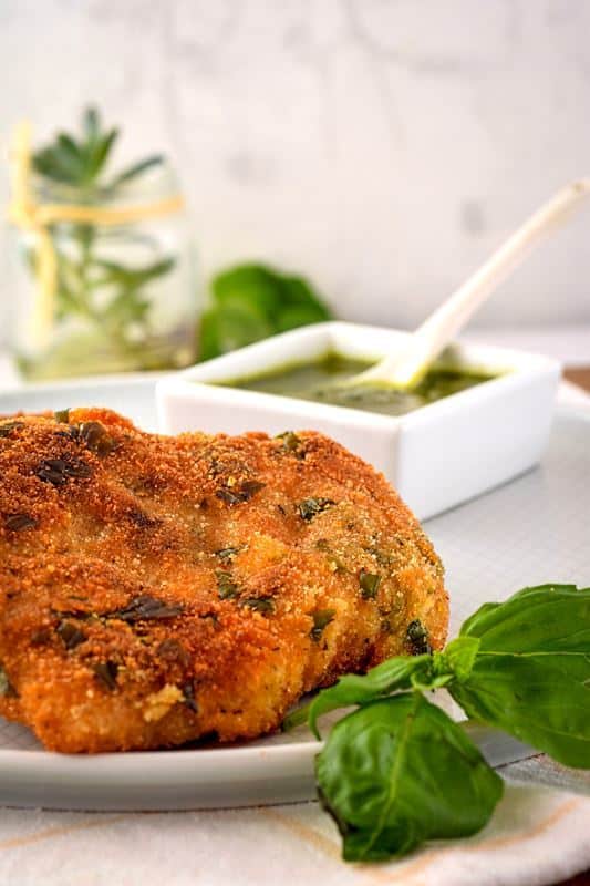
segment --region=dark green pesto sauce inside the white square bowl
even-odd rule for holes
[[[420,384],[410,392],[396,391],[383,383],[341,389],[333,387],[371,365],[373,361],[355,360],[329,352],[307,363],[291,363],[260,375],[224,382],[224,387],[282,394],[317,403],[377,412],[382,415],[403,415],[494,378],[459,367],[439,365],[431,369]]]

